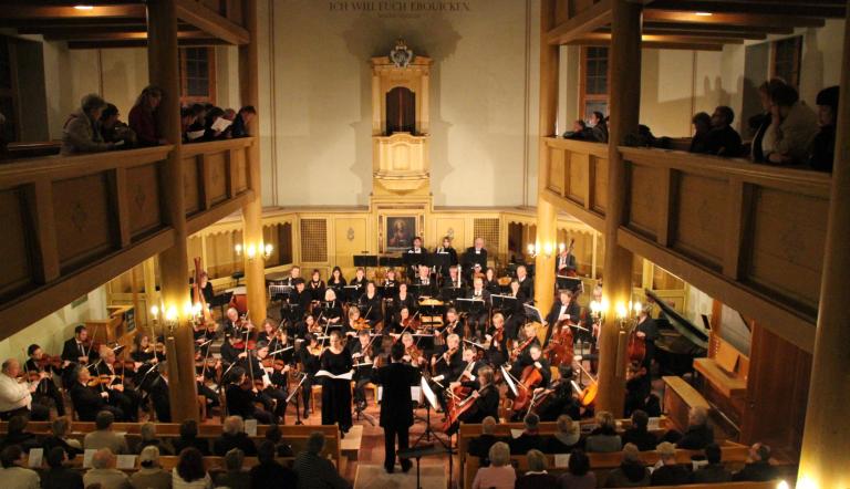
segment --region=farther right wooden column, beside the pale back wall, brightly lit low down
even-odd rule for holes
[[[547,201],[543,190],[549,179],[549,153],[546,148],[545,137],[554,134],[558,119],[558,45],[549,44],[547,33],[554,27],[554,0],[542,0],[540,4],[540,121],[539,121],[539,155],[538,155],[538,198],[537,198],[537,236],[536,245],[543,248],[546,243],[552,245],[551,257],[547,258],[537,250],[535,260],[535,301],[541,314],[547,314],[554,299],[554,253],[558,248],[557,209]],[[540,337],[545,337],[546,331],[539,331]]]

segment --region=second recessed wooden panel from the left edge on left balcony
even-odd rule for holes
[[[107,254],[115,229],[105,174],[53,183],[53,212],[62,272]]]

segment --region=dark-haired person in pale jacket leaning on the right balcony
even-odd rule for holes
[[[808,162],[809,147],[818,134],[818,116],[799,101],[794,86],[778,85],[770,92],[770,126],[761,139],[765,160],[775,165]]]

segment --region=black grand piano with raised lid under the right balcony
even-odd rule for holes
[[[693,373],[694,358],[704,357],[708,353],[708,330],[682,316],[655,292],[646,289],[645,293],[646,299],[661,310],[655,320],[661,333],[655,342],[660,375],[682,376]]]

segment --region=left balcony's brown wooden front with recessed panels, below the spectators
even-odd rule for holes
[[[189,232],[252,195],[253,138],[186,145]],[[24,159],[0,167],[0,335],[38,321],[174,245],[164,164],[174,147]],[[73,279],[73,280],[72,280]]]

